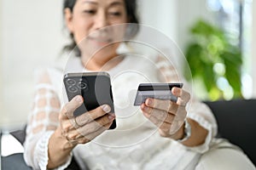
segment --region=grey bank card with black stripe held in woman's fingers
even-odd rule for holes
[[[183,88],[183,83],[141,83],[137,88],[134,105],[142,105],[148,98],[177,102],[177,97],[172,94],[173,87]]]

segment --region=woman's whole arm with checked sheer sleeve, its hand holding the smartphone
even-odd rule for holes
[[[84,102],[76,96],[61,108],[60,100],[51,84],[49,73],[38,75],[32,114],[26,130],[25,160],[34,169],[64,169],[71,161],[71,151],[77,144],[85,144],[107,130],[114,116],[109,105],[74,117]]]

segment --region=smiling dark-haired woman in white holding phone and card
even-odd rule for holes
[[[79,54],[71,49],[66,66],[36,71],[24,144],[26,163],[34,169],[64,169],[74,156],[82,169],[253,169],[233,144],[214,138],[217,124],[212,112],[193,98],[187,83],[172,88],[177,102],[150,98],[140,107],[131,105],[134,89],[141,82],[183,82],[172,65],[179,54],[168,55],[169,61],[160,52],[139,53],[142,43],[126,37],[130,26],[135,26],[137,37],[143,35],[151,42],[165,37],[148,26],[137,31],[135,4],[136,0],[64,1],[67,30]],[[138,53],[131,48],[132,42]],[[63,75],[91,71],[110,75],[115,108],[104,103],[76,116],[80,107],[88,108],[85,103],[90,99],[81,91],[68,100]],[[76,83],[69,81],[69,85]],[[89,83],[86,90],[91,92],[90,88],[96,87]],[[108,130],[113,120],[117,127]],[[212,161],[201,161],[201,157]],[[216,163],[219,160],[224,161]]]

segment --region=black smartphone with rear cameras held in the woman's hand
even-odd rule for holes
[[[67,73],[63,78],[64,86],[67,92],[67,99],[70,101],[76,95],[84,98],[84,105],[74,111],[74,116],[79,116],[87,111],[96,109],[100,105],[109,105],[111,113],[114,113],[113,94],[108,72],[83,72],[83,73]],[[110,129],[116,127],[113,123]]]

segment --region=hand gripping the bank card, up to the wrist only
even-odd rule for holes
[[[170,100],[146,99],[141,109],[143,115],[159,127],[162,137],[181,139],[190,94],[182,88],[172,88],[172,94],[177,97],[177,103]]]

